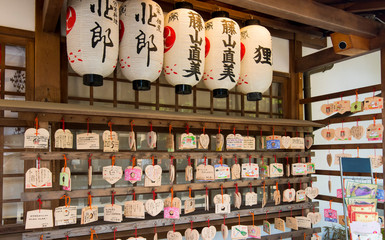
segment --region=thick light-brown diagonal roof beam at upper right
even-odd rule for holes
[[[218,0],[279,18],[361,37],[376,37],[380,23],[308,0]]]

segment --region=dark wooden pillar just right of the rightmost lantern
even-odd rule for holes
[[[290,81],[288,84],[288,99],[289,106],[284,118],[303,119],[303,109],[299,104],[299,99],[302,98],[303,77],[302,73],[295,71],[296,60],[302,57],[302,43],[296,40],[289,40],[289,73]]]

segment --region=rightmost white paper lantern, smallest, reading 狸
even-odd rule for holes
[[[262,100],[262,93],[273,80],[271,35],[257,20],[246,21],[241,29],[241,76],[238,90],[247,94],[247,100]]]

